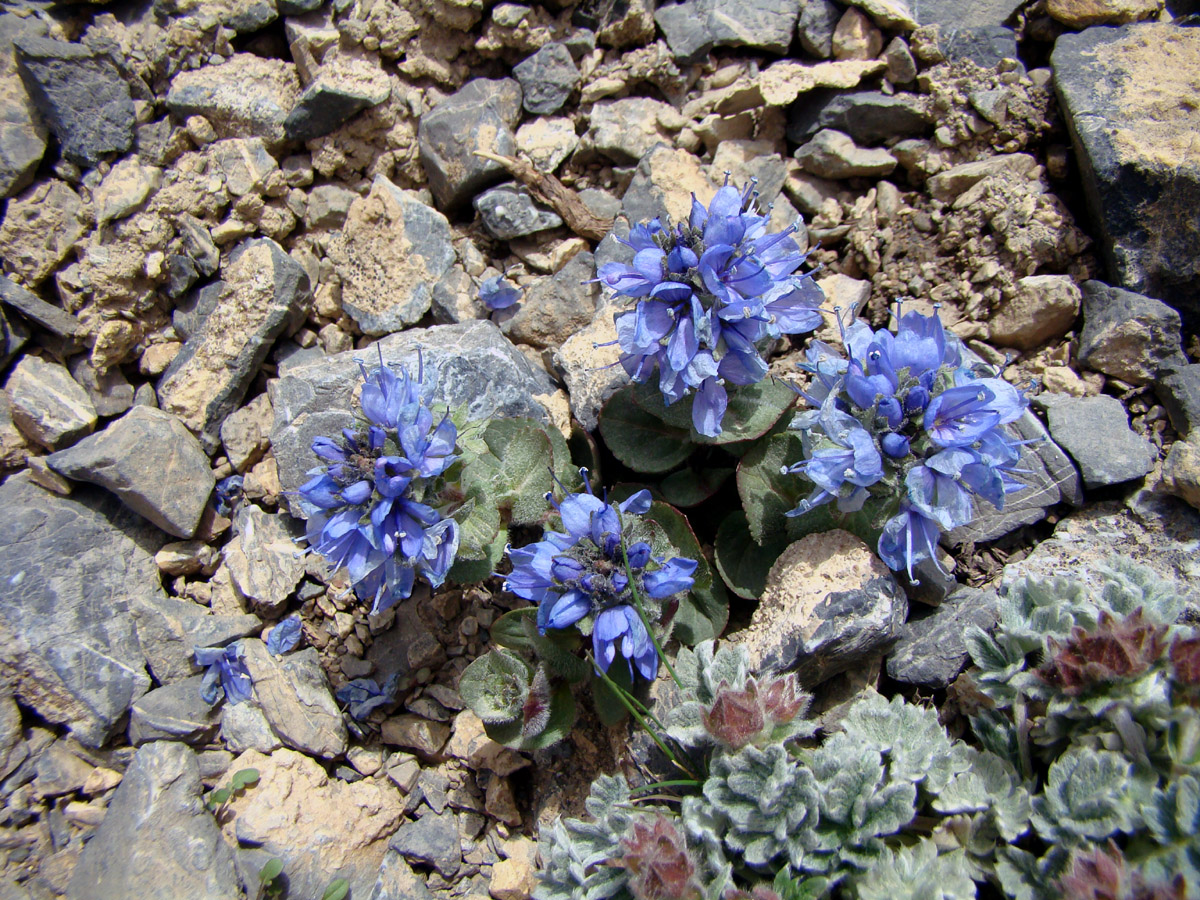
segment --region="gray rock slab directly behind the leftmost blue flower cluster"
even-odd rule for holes
[[[526,359],[494,323],[464,322],[390,335],[373,347],[338,353],[296,366],[282,374],[271,392],[275,428],[271,446],[284,491],[294,491],[316,464],[313,438],[338,434],[353,421],[352,395],[362,383],[359,364],[370,367],[383,354],[388,365],[418,373],[418,350],[425,378],[437,385],[434,404],[467,407],[468,418],[530,416],[546,421],[535,395],[552,394],[550,377]],[[290,497],[284,498],[293,505]]]

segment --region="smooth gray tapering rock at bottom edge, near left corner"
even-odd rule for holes
[[[156,742],[140,748],[79,857],[68,900],[239,896],[233,851],[204,808],[202,790],[187,746]]]

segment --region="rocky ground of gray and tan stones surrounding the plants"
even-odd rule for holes
[[[954,582],[805,539],[734,610],[757,659],[799,660],[827,709],[944,701],[1018,575],[1120,551],[1194,593],[1200,4],[5,8],[0,900],[253,896],[271,857],[304,900],[528,895],[539,824],[631,764],[624,734],[490,742],[456,684],[517,601],[426,588],[368,617],[296,553],[287,492],[377,341],[424,348],[473,418],[594,431],[623,379],[601,238],[726,173],[803,217],[830,307],[938,305],[1050,438],[1025,494],[949,535]],[[490,316],[499,272],[524,298]],[[814,642],[835,589],[858,599]],[[274,656],[290,612],[301,649]],[[238,638],[256,697],[210,708],[191,650]],[[364,721],[335,700],[391,676]],[[247,767],[214,817],[198,798]]]

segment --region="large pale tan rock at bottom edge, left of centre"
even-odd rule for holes
[[[236,840],[239,868],[257,882],[271,857],[283,860],[288,895],[319,898],[335,878],[350,896],[368,896],[403,816],[398,794],[373,781],[330,779],[294,750],[253,750],[229,767],[258,769],[258,784],[229,800],[226,835]],[[230,896],[233,896],[230,894]]]

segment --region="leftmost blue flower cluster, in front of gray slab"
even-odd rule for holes
[[[372,614],[409,596],[416,575],[439,587],[458,551],[458,523],[428,505],[437,479],[458,458],[458,433],[449,416],[434,421],[422,374],[397,374],[382,360],[370,374],[364,370],[366,422],[340,440],[313,440],[329,464],[312,469],[299,491],[317,510],[308,545],[346,568]]]

